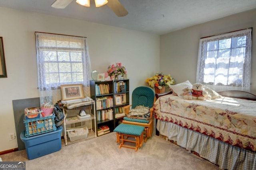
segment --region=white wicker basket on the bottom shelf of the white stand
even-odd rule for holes
[[[69,137],[70,141],[76,141],[79,139],[87,138],[88,133],[89,133],[89,130],[85,126],[82,128],[73,129],[72,131],[68,131],[68,137]]]

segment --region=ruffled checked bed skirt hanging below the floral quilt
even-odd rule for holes
[[[158,120],[156,128],[166,136],[167,141],[189,152],[196,152],[197,156],[222,169],[256,170],[256,152],[234,147],[171,122]]]

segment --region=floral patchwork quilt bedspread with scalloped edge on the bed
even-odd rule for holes
[[[256,101],[227,97],[184,100],[166,95],[158,98],[154,110],[156,119],[256,151]]]

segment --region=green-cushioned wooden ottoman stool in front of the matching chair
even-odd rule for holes
[[[145,127],[137,126],[137,125],[128,125],[128,124],[120,124],[115,129],[116,132],[116,142],[120,143],[119,148],[126,147],[135,149],[137,152],[138,148],[142,147],[143,144],[143,131]],[[135,141],[129,140],[128,137],[134,137]],[[136,146],[125,145],[125,142],[135,143]]]

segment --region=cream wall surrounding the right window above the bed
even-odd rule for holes
[[[251,93],[256,94],[256,9],[160,36],[160,71],[176,83],[196,83],[198,45],[201,37],[253,27]]]

